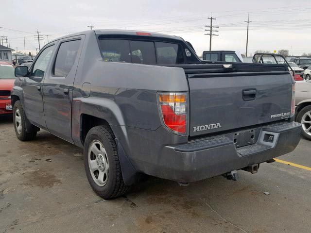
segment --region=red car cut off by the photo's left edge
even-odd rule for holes
[[[14,67],[0,62],[0,116],[12,113],[11,89],[14,86]]]

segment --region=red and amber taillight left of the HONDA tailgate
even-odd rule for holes
[[[158,93],[158,104],[164,126],[173,133],[187,135],[187,93]]]

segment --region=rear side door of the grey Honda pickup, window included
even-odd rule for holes
[[[43,83],[43,105],[48,130],[72,142],[71,102],[73,81],[81,53],[81,37],[60,40],[53,66]]]

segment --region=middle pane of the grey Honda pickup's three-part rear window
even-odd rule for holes
[[[155,45],[152,41],[131,41],[132,63],[155,65]]]

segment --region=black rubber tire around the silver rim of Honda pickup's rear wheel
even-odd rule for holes
[[[104,146],[109,165],[108,178],[104,186],[100,186],[94,181],[92,171],[89,167],[89,150],[91,150],[90,146],[95,141],[100,142]],[[123,196],[129,191],[130,186],[126,186],[123,182],[118,150],[114,140],[114,134],[110,128],[100,125],[89,130],[84,144],[84,164],[87,180],[98,196],[104,199],[113,199]],[[93,175],[94,172],[96,171],[93,171]]]

